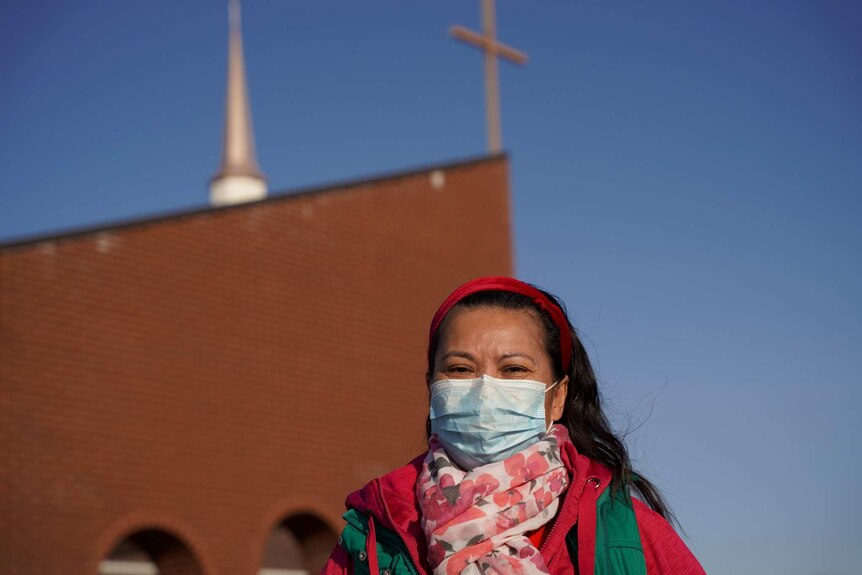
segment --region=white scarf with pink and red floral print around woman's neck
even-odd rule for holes
[[[434,575],[548,573],[525,533],[557,513],[568,485],[560,444],[569,441],[554,425],[523,451],[464,471],[432,435],[416,493]]]

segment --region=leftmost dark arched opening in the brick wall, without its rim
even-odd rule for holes
[[[191,550],[158,529],[128,535],[99,563],[99,575],[203,575]]]

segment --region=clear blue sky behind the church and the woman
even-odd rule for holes
[[[225,4],[0,3],[0,241],[206,205]],[[498,3],[518,274],[711,575],[858,574],[862,4],[648,4]],[[478,2],[243,19],[272,189],[484,151]]]

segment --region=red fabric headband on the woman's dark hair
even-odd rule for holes
[[[569,322],[566,320],[566,314],[560,309],[556,302],[552,301],[548,296],[534,288],[528,283],[524,283],[515,278],[506,276],[492,276],[475,279],[469,281],[457,288],[437,313],[434,314],[434,319],[431,320],[431,330],[428,333],[429,342],[434,338],[437,329],[443,322],[446,314],[455,307],[455,305],[470,294],[482,291],[507,291],[511,293],[521,294],[530,298],[536,307],[542,310],[560,330],[560,359],[563,364],[563,371],[568,372],[572,363],[572,332],[569,330]]]

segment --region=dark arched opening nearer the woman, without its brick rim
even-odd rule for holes
[[[314,515],[291,515],[270,531],[259,575],[316,575],[336,539],[329,526]]]

